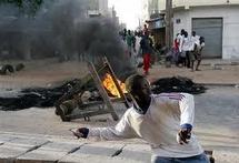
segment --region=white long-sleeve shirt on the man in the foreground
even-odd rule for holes
[[[151,145],[153,156],[189,157],[201,154],[202,147],[193,134],[188,144],[179,144],[177,134],[180,125],[192,125],[193,116],[195,102],[191,94],[153,94],[146,114],[139,114],[130,108],[116,126],[90,129],[88,136],[104,140],[141,137]]]

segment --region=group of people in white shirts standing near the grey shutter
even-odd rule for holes
[[[205,38],[196,34],[192,31],[191,35],[182,29],[180,33],[177,34],[173,42],[175,51],[175,62],[177,65],[182,64],[191,71],[200,71],[199,65],[201,63],[201,51],[205,47]],[[197,61],[195,68],[195,61]]]

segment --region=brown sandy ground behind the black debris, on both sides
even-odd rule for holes
[[[13,65],[20,61],[11,62]],[[201,70],[191,72],[186,68],[165,68],[165,65],[155,64],[148,75],[150,81],[159,78],[182,75],[192,79],[197,83],[222,83],[239,84],[239,65],[217,65],[215,69],[213,60],[202,61]],[[0,62],[1,64],[1,62]],[[0,75],[0,88],[19,89],[29,86],[52,86],[64,80],[82,78],[89,73],[86,63],[63,62],[59,63],[56,59],[39,60],[34,62],[24,62],[26,69],[9,75]],[[142,69],[139,69],[142,73]]]

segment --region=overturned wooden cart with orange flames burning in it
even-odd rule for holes
[[[60,115],[62,121],[82,118],[89,121],[90,116],[110,113],[117,121],[119,118],[112,102],[129,106],[125,83],[117,79],[107,58],[102,59],[100,67],[88,62],[88,69],[90,73],[56,102],[56,114]],[[97,90],[89,86],[92,82]]]

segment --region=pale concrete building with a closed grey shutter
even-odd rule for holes
[[[239,0],[175,0],[173,34],[186,29],[205,37],[205,58],[239,59],[238,17]]]

